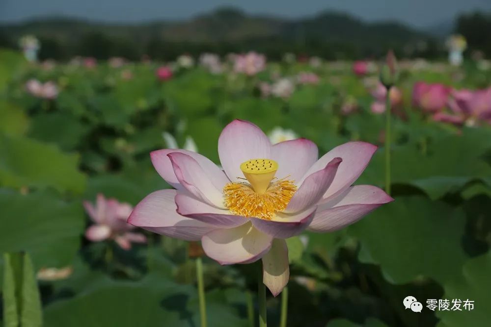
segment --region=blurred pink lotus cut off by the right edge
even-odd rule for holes
[[[433,119],[453,125],[491,124],[491,88],[484,90],[453,90],[448,101],[450,112],[437,112]]]

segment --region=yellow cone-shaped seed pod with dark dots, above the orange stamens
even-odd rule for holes
[[[278,170],[278,163],[271,159],[250,159],[241,164],[241,170],[254,191],[264,193]]]

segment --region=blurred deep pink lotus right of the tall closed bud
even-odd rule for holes
[[[412,89],[412,104],[425,112],[436,113],[447,105],[450,91],[443,84],[416,82]]]

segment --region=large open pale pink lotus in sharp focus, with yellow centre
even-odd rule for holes
[[[262,259],[263,281],[276,296],[289,279],[286,238],[305,229],[343,228],[393,201],[378,187],[351,186],[376,150],[349,142],[318,159],[317,146],[307,139],[272,145],[259,127],[235,120],[218,139],[223,170],[195,152],[150,153],[175,190],[148,195],[128,222],[201,240],[204,252],[222,265]]]

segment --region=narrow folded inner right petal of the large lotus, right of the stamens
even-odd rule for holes
[[[317,204],[326,193],[329,185],[331,185],[341,162],[341,158],[334,158],[323,170],[317,171],[305,178],[284,212],[299,212]]]

